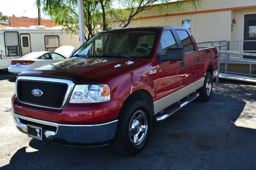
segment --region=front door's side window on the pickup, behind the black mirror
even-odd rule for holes
[[[166,55],[167,49],[177,48],[176,41],[170,30],[163,32],[160,43],[162,45],[164,55]]]

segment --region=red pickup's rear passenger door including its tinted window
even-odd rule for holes
[[[185,52],[184,62],[186,78],[182,80],[182,87],[194,83],[193,87],[191,88],[191,91],[193,92],[194,87],[198,88],[200,83],[198,81],[200,79],[200,53],[198,50],[196,50],[190,34],[186,29],[177,29],[176,33],[180,39],[182,45],[181,47],[184,48]],[[190,91],[186,91],[186,94],[189,92]]]

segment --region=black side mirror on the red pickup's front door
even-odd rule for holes
[[[161,62],[164,61],[183,61],[184,60],[184,48],[169,48],[166,55],[159,55]]]

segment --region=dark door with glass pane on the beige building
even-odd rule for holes
[[[256,14],[244,15],[244,40],[255,40],[255,42],[244,42],[244,51],[256,51]],[[245,55],[243,57],[256,58],[253,56]]]

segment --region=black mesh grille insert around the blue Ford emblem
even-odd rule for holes
[[[32,95],[34,89],[40,89],[43,95]],[[17,97],[23,103],[60,109],[67,89],[66,83],[19,80],[17,82]]]

